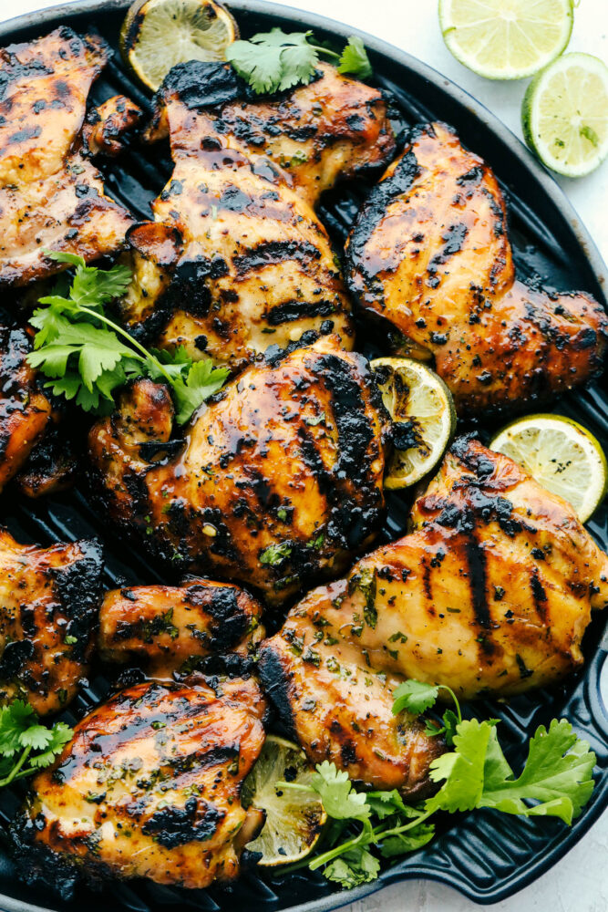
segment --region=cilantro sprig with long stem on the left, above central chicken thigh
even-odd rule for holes
[[[55,395],[74,399],[85,411],[107,414],[117,389],[129,379],[149,377],[169,384],[175,418],[183,424],[222,388],[227,368],[214,368],[210,358],[193,363],[183,347],[148,349],[106,314],[104,306],[127,290],[128,267],[103,270],[75,254],[47,255],[76,267],[71,284],[61,276],[53,294],[40,298],[46,306],[29,321],[37,332],[27,361],[49,378],[46,387]]]

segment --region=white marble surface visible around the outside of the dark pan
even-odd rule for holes
[[[47,0],[0,0],[0,20],[41,7]],[[460,66],[443,44],[436,0],[294,0],[302,9],[332,16],[407,50],[459,83],[500,117],[517,136],[525,83],[496,83]],[[608,57],[608,0],[580,0],[569,50]],[[608,162],[580,181],[559,179],[608,261]],[[606,912],[608,910],[608,814],[549,873],[496,912]],[[412,881],[387,887],[345,912],[472,912],[479,908],[448,887]]]

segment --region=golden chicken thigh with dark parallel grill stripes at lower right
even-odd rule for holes
[[[294,606],[260,659],[311,760],[406,791],[432,744],[392,715],[399,682],[463,700],[551,684],[582,664],[591,609],[608,605],[608,557],[570,504],[476,440],[455,442],[412,518]]]

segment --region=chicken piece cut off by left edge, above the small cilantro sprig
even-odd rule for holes
[[[26,700],[42,716],[73,700],[88,671],[101,569],[95,541],[41,548],[0,529],[0,702]]]

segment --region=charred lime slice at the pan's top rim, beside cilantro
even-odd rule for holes
[[[155,92],[171,67],[223,60],[238,36],[233,17],[214,0],[136,0],[120,30],[120,53]]]

